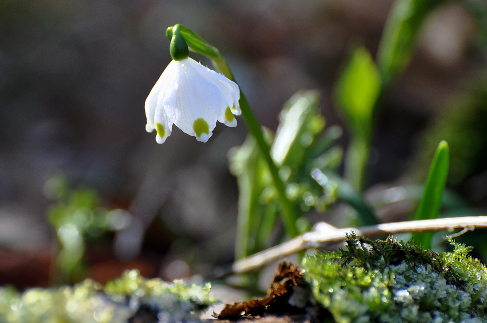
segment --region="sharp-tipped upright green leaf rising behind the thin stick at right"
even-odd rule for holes
[[[423,196],[419,201],[415,220],[434,219],[440,214],[441,197],[447,182],[450,164],[450,148],[446,141],[441,141],[431,162],[430,171],[425,182]],[[425,249],[431,247],[432,233],[414,233],[413,239]]]

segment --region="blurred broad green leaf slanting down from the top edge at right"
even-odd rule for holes
[[[445,0],[394,1],[377,53],[384,84],[406,69],[425,19],[443,2]]]

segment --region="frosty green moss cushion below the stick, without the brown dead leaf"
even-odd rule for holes
[[[487,322],[486,267],[450,243],[434,253],[350,235],[345,250],[305,257],[304,278],[337,323]]]

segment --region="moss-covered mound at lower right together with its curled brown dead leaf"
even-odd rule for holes
[[[487,322],[486,267],[468,255],[471,247],[449,241],[453,252],[435,253],[412,241],[349,235],[343,250],[307,255],[300,268],[281,264],[267,297],[227,305],[221,318],[238,323]]]

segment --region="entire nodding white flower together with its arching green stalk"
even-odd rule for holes
[[[234,115],[244,119],[262,153],[274,185],[278,191],[282,211],[280,215],[286,233],[298,235],[296,211],[285,195],[285,187],[278,168],[270,155],[270,147],[264,139],[252,109],[244,93],[234,82],[232,71],[217,48],[189,28],[176,24],[166,30],[173,61],[162,73],[146,100],[148,132],[157,131],[156,141],[164,143],[176,125],[197,140],[206,142],[212,135],[216,121],[227,126],[237,126]],[[211,59],[218,72],[211,71],[188,57],[189,50]]]

